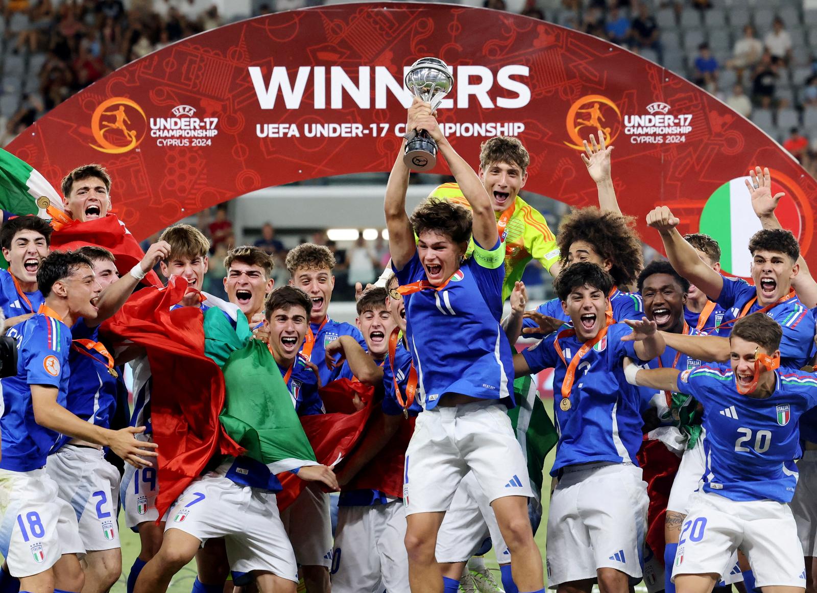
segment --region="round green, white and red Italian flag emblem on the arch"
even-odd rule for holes
[[[791,230],[800,237],[800,213],[786,188],[775,181],[772,172],[772,195],[786,192],[780,200],[775,214],[784,229]],[[709,197],[701,212],[699,232],[708,234],[721,246],[721,268],[733,276],[748,278],[752,265],[752,254],[748,244],[752,235],[761,230],[761,221],[752,210],[752,198],[746,189],[749,177],[736,177],[721,185]]]

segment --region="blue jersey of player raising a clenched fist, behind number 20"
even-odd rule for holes
[[[717,298],[717,304],[726,310],[724,322],[737,319],[743,307],[757,297],[755,287],[741,279],[723,279],[723,289]],[[762,309],[755,301],[746,314]],[[783,339],[780,341],[780,364],[785,367],[801,368],[808,361],[808,354],[815,339],[814,316],[803,305],[797,296],[775,305],[766,311],[783,328]],[[721,328],[721,336],[727,337],[731,332],[730,325]]]

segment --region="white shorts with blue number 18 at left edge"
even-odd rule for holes
[[[83,554],[77,515],[45,468],[0,470],[0,554],[12,577],[32,577],[63,554]]]

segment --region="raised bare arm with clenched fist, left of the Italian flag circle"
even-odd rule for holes
[[[678,274],[693,283],[712,301],[717,301],[723,290],[723,276],[712,270],[687,243],[676,226],[680,223],[666,206],[654,208],[647,215],[647,225],[661,234],[667,259]]]

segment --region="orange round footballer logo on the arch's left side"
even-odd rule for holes
[[[100,103],[91,116],[93,149],[107,154],[123,154],[135,149],[145,137],[148,118],[135,102],[115,96]]]

